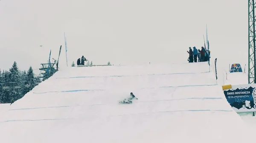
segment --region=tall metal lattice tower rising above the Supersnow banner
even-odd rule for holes
[[[256,83],[255,1],[248,0],[248,84]]]

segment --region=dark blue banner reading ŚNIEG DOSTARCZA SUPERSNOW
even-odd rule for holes
[[[256,112],[256,84],[232,85],[224,94],[234,111]]]

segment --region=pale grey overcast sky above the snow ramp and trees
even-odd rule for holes
[[[60,45],[67,66],[64,32],[69,66],[82,55],[94,64],[187,62],[206,24],[212,56],[246,63],[247,13],[246,0],[0,0],[0,68],[37,69]]]

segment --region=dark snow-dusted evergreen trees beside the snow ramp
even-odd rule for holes
[[[20,71],[14,62],[9,70],[0,70],[0,103],[17,101],[40,82],[31,66],[27,72]]]

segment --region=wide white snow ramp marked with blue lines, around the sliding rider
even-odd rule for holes
[[[139,100],[118,104],[130,92]],[[4,143],[240,143],[247,138],[206,62],[70,67],[10,107],[0,116]],[[237,132],[239,138],[233,138]]]

